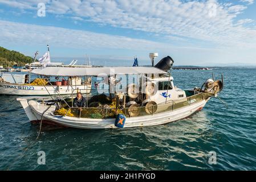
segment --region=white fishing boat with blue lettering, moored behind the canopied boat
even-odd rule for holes
[[[42,68],[43,69],[43,68]],[[46,96],[72,94],[78,89],[82,93],[91,92],[91,78],[33,77],[31,73],[3,73],[0,77],[0,94],[17,96]]]

